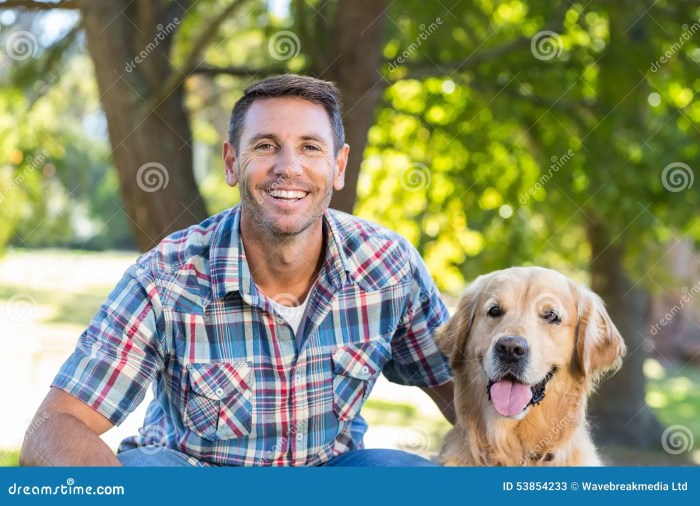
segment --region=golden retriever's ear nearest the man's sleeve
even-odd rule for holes
[[[467,287],[452,317],[437,331],[438,346],[450,359],[452,370],[460,369],[464,363],[464,346],[474,321],[474,312],[482,285],[483,276],[480,276]]]

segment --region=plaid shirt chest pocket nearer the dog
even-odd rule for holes
[[[384,341],[368,341],[338,348],[333,354],[333,411],[338,420],[355,418],[367,400],[372,385],[391,349]]]

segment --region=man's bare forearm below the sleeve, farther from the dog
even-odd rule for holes
[[[51,388],[34,415],[19,456],[21,466],[119,466],[100,434],[114,424],[84,402]]]

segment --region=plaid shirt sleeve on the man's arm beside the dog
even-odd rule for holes
[[[411,293],[391,340],[392,359],[384,376],[401,385],[435,387],[452,379],[447,358],[435,342],[435,330],[449,313],[425,263],[413,246]]]

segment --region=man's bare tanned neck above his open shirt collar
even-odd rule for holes
[[[250,275],[258,290],[287,306],[306,299],[323,263],[322,220],[281,242],[242,219],[241,240]]]

